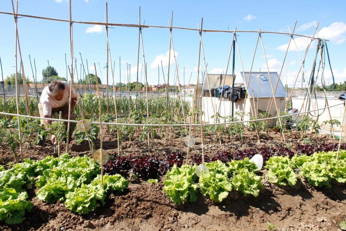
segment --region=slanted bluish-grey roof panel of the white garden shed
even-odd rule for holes
[[[250,98],[252,98],[253,95],[255,98],[270,98],[273,96],[269,76],[272,81],[273,89],[275,90],[276,81],[279,79],[277,72],[269,72],[270,75],[268,72],[251,72],[249,76],[250,72],[245,71],[244,74],[243,72],[241,72],[241,74],[243,79],[245,74],[246,83],[249,83],[247,90]],[[260,92],[258,92],[258,89],[260,89]],[[254,91],[254,94],[252,94],[252,91]],[[286,90],[280,79],[277,84],[275,97],[286,97]]]

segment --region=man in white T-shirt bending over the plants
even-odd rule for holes
[[[74,119],[74,107],[77,101],[77,95],[74,89],[72,89],[71,95],[71,111],[69,112],[69,98],[70,98],[70,83],[66,81],[52,81],[47,87],[42,91],[40,101],[38,103],[38,110],[40,117],[51,118],[55,113],[61,112],[63,119],[69,118],[69,113],[71,114],[70,119]],[[42,119],[41,124],[50,125],[52,124],[51,120]],[[73,123],[71,125],[74,125]],[[65,122],[67,127],[67,122]],[[70,137],[73,132],[73,127],[70,127]],[[55,136],[51,135],[52,143],[55,142]]]

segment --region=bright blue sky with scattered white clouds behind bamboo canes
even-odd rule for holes
[[[36,15],[51,18],[69,19],[69,1],[46,0],[25,1],[20,0],[19,14]],[[331,1],[108,1],[109,23],[138,24],[138,8],[141,6],[141,22],[146,25],[168,25],[173,11],[173,26],[197,28],[203,17],[204,29],[234,29],[289,32],[288,26],[293,29],[297,20],[295,33],[309,35],[315,30],[315,21],[319,22],[318,32],[322,38],[329,39],[328,49],[331,65],[337,82],[346,79],[346,2]],[[73,0],[72,18],[80,21],[104,21],[106,1],[98,0]],[[1,1],[0,11],[12,12],[11,1]],[[14,20],[11,15],[0,14],[0,56],[4,78],[15,72],[14,57]],[[91,25],[73,25],[74,55],[77,58],[78,74],[80,74],[80,56],[86,68],[97,65],[98,75],[101,77],[98,63],[102,70],[102,83],[106,83],[107,48],[104,27],[91,27]],[[42,69],[47,60],[57,69],[61,77],[66,77],[65,53],[67,63],[70,58],[69,23],[49,21],[34,18],[19,18],[18,31],[21,51],[26,75],[32,77],[29,54],[31,61],[35,58],[37,79],[42,78]],[[89,33],[87,33],[89,32]],[[93,33],[91,33],[93,32]],[[196,31],[173,29],[173,41],[179,64],[180,82],[183,83],[183,68],[185,68],[185,83],[187,84],[192,73],[191,83],[196,82],[199,34]],[[258,33],[238,33],[237,40],[242,57],[244,70],[249,71]],[[208,73],[221,73],[226,70],[228,53],[231,45],[231,33],[203,33],[202,40]],[[285,44],[289,36],[262,34],[268,65],[271,71],[280,71],[285,54]],[[144,28],[143,42],[149,84],[158,82],[157,64],[160,63],[160,82],[163,69],[167,75],[170,34],[167,28]],[[309,39],[295,37],[300,54],[303,57]],[[126,63],[131,64],[131,82],[136,79],[138,28],[114,27],[109,29],[109,43],[112,60],[115,64],[115,82],[119,82],[119,56],[121,57],[121,81],[127,77]],[[306,59],[305,71],[311,71],[316,43],[313,43]],[[172,52],[173,54],[173,52]],[[174,58],[171,56],[170,83],[173,81],[175,71]],[[144,63],[142,47],[140,49],[140,65]],[[18,61],[19,63],[19,61]],[[201,66],[204,64],[201,55]],[[141,66],[140,66],[141,67]],[[299,71],[300,60],[294,44],[290,46],[283,73],[282,82],[292,84],[295,74]],[[258,44],[253,71],[267,71],[261,43]],[[109,69],[110,70],[110,69]],[[238,51],[236,50],[235,72],[240,77],[242,71]],[[89,72],[94,73],[93,68]],[[139,68],[139,79],[141,68]],[[228,74],[231,73],[231,62]],[[331,74],[327,68],[326,81],[331,81]],[[299,78],[300,79],[300,78]],[[75,77],[76,80],[76,77]],[[127,81],[127,80],[126,80]],[[109,73],[109,82],[112,83]],[[144,82],[144,70],[142,74]],[[240,82],[240,79],[237,79]],[[297,85],[300,86],[300,80]]]

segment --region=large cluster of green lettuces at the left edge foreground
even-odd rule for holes
[[[65,202],[66,208],[77,213],[88,213],[100,204],[108,192],[124,190],[128,181],[120,176],[105,175],[101,185],[100,166],[90,157],[63,154],[43,160],[26,159],[11,169],[0,169],[0,220],[8,224],[22,222],[32,203],[27,201],[26,188],[36,185],[37,198],[54,203]]]

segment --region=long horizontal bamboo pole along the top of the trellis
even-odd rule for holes
[[[13,15],[11,12],[4,12],[0,11],[0,14],[6,14],[6,15]],[[68,19],[58,19],[58,18],[48,18],[48,17],[40,17],[40,16],[34,16],[34,15],[24,15],[24,14],[17,14],[20,17],[28,17],[28,18],[37,18],[37,19],[45,19],[45,20],[53,20],[53,21],[62,21],[62,22],[69,22]],[[102,22],[88,22],[88,21],[76,21],[72,20],[72,23],[80,23],[80,24],[89,24],[89,25],[102,25],[106,26],[106,23]],[[122,24],[122,23],[108,23],[108,28],[111,28],[109,26],[122,26],[122,27],[142,27],[142,28],[171,28],[170,26],[154,26],[154,25],[139,25],[139,24]],[[188,28],[188,27],[177,27],[172,26],[173,29],[184,29],[184,30],[195,30],[200,31],[198,28]],[[225,32],[225,33],[234,33],[234,30],[213,30],[213,29],[202,29],[202,32]],[[237,33],[258,33],[258,30],[237,30]],[[274,32],[274,31],[262,31],[263,34],[281,34],[281,35],[289,35],[291,36],[291,33],[284,33],[284,32]],[[311,38],[311,36],[308,35],[300,35],[300,34],[293,34],[294,36],[299,37],[306,37]],[[318,37],[313,37],[314,39],[318,39]],[[326,41],[329,41],[326,39]]]

